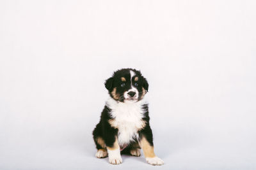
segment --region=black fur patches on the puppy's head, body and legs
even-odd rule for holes
[[[138,81],[136,81],[136,83],[138,84],[136,86],[136,89],[138,89],[139,92],[138,100],[141,100],[143,98],[143,89],[145,89],[144,93],[148,91],[148,82],[146,78],[141,75],[140,71],[137,71],[136,69],[120,69],[118,71],[115,71],[113,73],[113,76],[105,81],[105,87],[106,89],[108,89],[109,95],[112,98],[113,94],[111,94],[111,92],[113,92],[113,89],[116,88],[116,94],[120,96],[118,99],[115,99],[118,102],[124,102],[124,92],[131,89],[130,70],[134,71],[135,75],[138,76]],[[124,77],[126,79],[124,86],[122,86],[122,83],[124,83],[124,81],[121,81],[121,77]],[[132,86],[135,87],[134,77],[132,78]],[[150,129],[149,124],[150,118],[148,117],[148,105],[144,104],[143,109],[145,110],[143,120],[145,120],[146,125],[143,129],[138,131],[139,138],[132,141],[129,146],[127,146],[125,150],[122,151],[122,153],[129,153],[129,150],[134,147],[140,148],[140,146],[138,145],[138,141],[140,141],[143,136],[147,139],[148,143],[153,146],[152,130]],[[93,139],[98,150],[102,148],[102,146],[97,143],[98,137],[102,138],[106,146],[108,147],[113,146],[115,138],[117,137],[118,129],[111,127],[108,122],[110,118],[111,109],[109,109],[108,106],[104,106],[104,110],[101,113],[100,122],[93,130]]]

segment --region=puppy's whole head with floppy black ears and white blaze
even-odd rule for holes
[[[106,80],[109,95],[120,102],[140,101],[148,91],[148,82],[136,69],[120,69]]]

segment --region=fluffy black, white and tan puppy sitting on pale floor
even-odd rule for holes
[[[111,164],[121,164],[121,153],[140,156],[142,148],[148,164],[163,165],[154,153],[145,94],[148,82],[136,69],[120,69],[106,80],[109,91],[100,122],[93,130],[96,157],[109,157]]]

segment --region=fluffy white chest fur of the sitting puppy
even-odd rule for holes
[[[114,99],[109,99],[106,104],[111,109],[113,118],[109,123],[118,129],[118,144],[124,146],[138,139],[138,131],[145,126],[145,121],[142,120],[145,113],[142,106],[146,104],[145,100],[118,103]]]

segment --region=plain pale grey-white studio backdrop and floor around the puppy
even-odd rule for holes
[[[0,169],[255,169],[255,1],[0,2]],[[164,166],[97,159],[122,67],[148,79]]]

